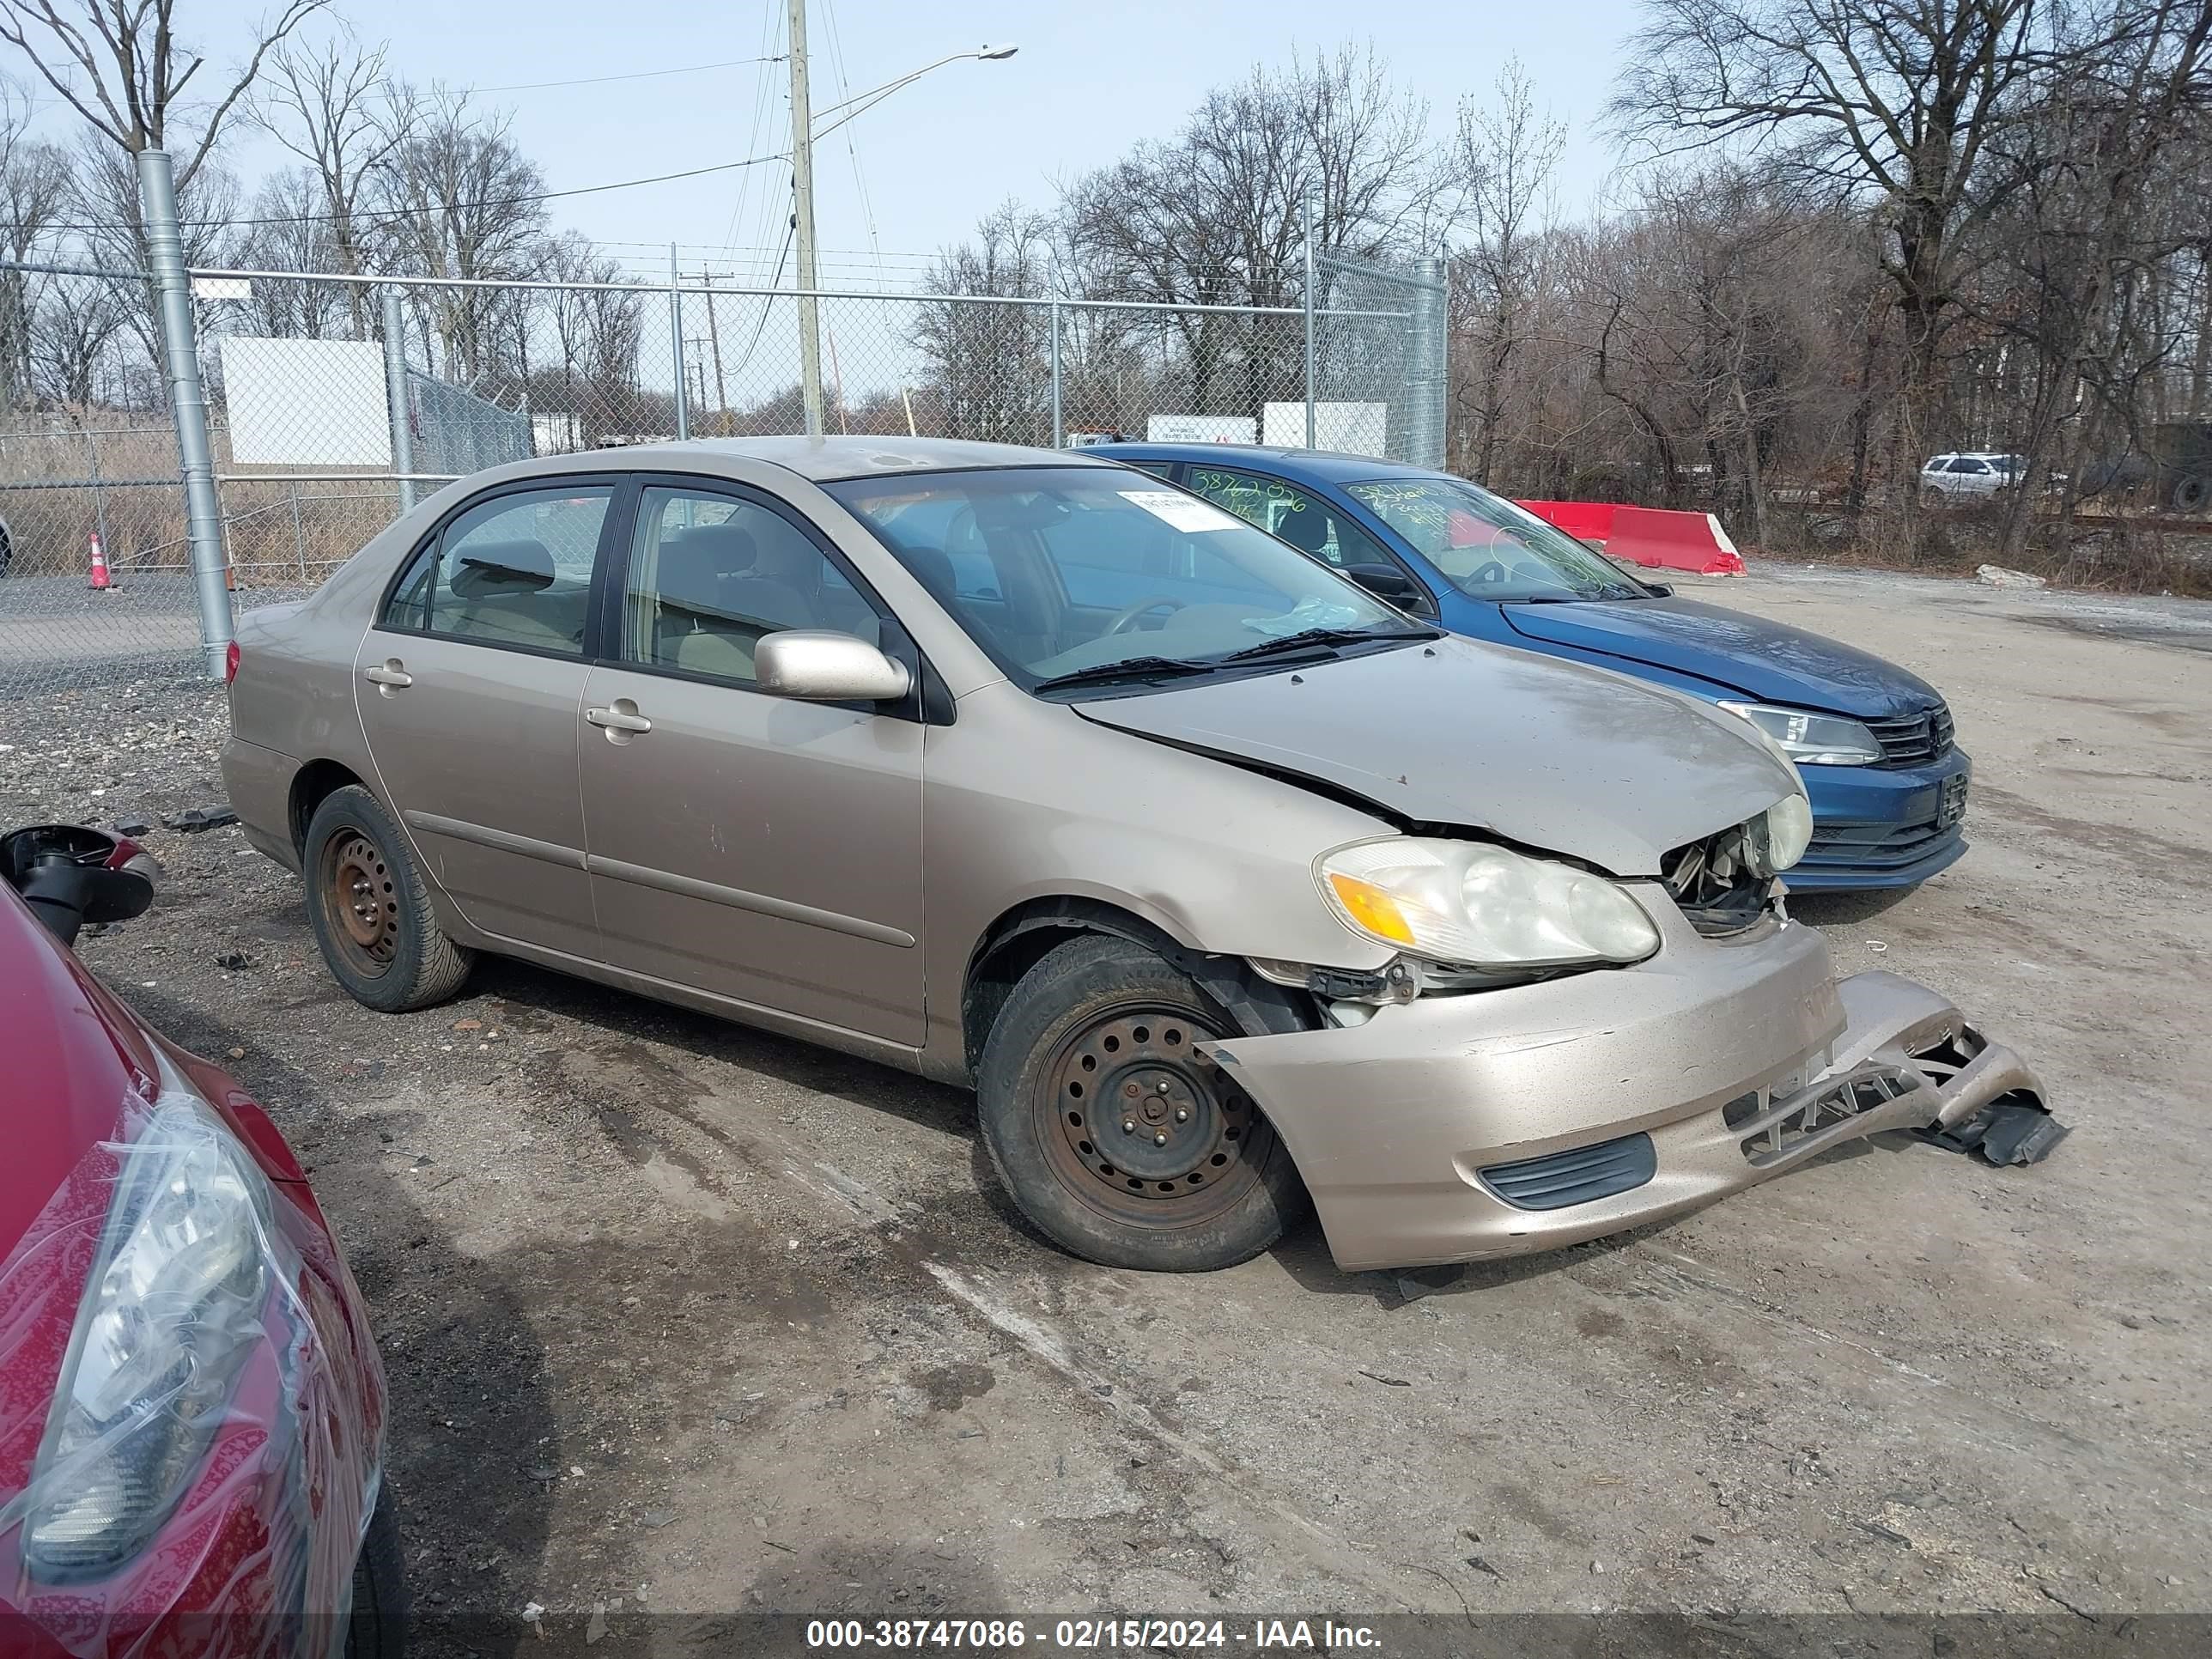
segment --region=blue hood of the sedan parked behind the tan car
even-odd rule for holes
[[[1761,703],[1891,719],[1942,701],[1933,686],[1896,664],[1717,604],[1630,599],[1498,608],[1524,639],[1694,675]]]

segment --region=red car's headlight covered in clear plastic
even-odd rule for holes
[[[100,1252],[31,1484],[9,1504],[46,1584],[106,1577],[190,1491],[265,1336],[281,1256],[268,1177],[164,1064],[161,1095],[115,1146]],[[13,1520],[9,1515],[7,1520]]]

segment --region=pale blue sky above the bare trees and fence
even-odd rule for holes
[[[787,148],[787,69],[730,64],[783,51],[785,0],[354,0],[367,42],[387,40],[394,73],[484,88],[513,113],[513,137],[555,190],[613,184]],[[250,0],[181,0],[179,33],[217,69],[248,46]],[[825,111],[947,53],[1018,44],[1006,62],[947,64],[816,148],[825,285],[907,288],[927,259],[1018,197],[1051,206],[1057,184],[1172,133],[1212,88],[1292,49],[1371,42],[1400,86],[1427,100],[1438,135],[1462,97],[1489,93],[1520,55],[1542,106],[1568,126],[1557,206],[1579,215],[1606,188],[1613,150],[1597,131],[1632,0],[1502,4],[1321,4],[1321,0],[810,0],[812,102]],[[310,24],[314,27],[314,24]],[[13,49],[0,69],[40,97],[38,131],[69,137],[77,117]],[[500,91],[491,91],[500,88]],[[228,164],[248,184],[285,157],[243,126]],[[611,190],[551,204],[555,223],[608,246],[635,270],[765,279],[790,210],[783,166]],[[790,276],[785,274],[785,281]]]

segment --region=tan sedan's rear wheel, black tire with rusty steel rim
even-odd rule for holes
[[[476,951],[440,931],[407,838],[358,783],[314,810],[301,874],[314,942],[356,1002],[407,1013],[445,1002],[469,978]]]

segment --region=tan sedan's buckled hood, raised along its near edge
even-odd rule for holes
[[[1674,847],[1798,787],[1743,721],[1692,697],[1458,637],[1075,710],[1615,876],[1657,876]]]

